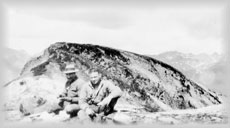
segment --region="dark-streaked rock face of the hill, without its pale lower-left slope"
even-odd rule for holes
[[[186,78],[180,71],[154,58],[90,44],[58,42],[44,54],[29,61],[21,76],[52,74],[50,65],[63,71],[66,63],[74,62],[80,75],[88,78],[92,67],[100,69],[132,100],[147,111],[200,108],[220,104],[218,96]],[[127,97],[124,97],[127,98]]]

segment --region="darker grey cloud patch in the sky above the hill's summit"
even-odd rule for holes
[[[64,15],[46,15],[47,19],[65,20],[68,22],[83,22],[105,29],[120,29],[131,25],[130,18],[121,12],[81,12]]]

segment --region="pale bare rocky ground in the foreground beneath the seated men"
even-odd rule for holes
[[[117,112],[95,121],[79,120],[78,117],[69,118],[68,115],[60,113],[48,113],[46,111],[19,116],[18,113],[11,112],[6,121],[21,123],[64,123],[64,124],[159,124],[159,125],[184,125],[184,124],[228,124],[227,108],[221,105],[213,105],[199,109],[172,110],[164,112],[146,112],[144,108],[137,107],[132,103],[119,100],[115,109]],[[9,114],[9,113],[8,113]],[[9,117],[11,116],[11,117]],[[16,119],[17,118],[17,119]]]

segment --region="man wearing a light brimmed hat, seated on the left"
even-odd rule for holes
[[[65,115],[69,114],[70,117],[76,116],[77,112],[80,110],[78,105],[79,100],[79,90],[81,89],[81,85],[83,81],[78,79],[76,72],[78,70],[75,68],[74,64],[69,64],[66,66],[64,71],[67,82],[65,85],[64,92],[59,95],[59,105],[64,108],[62,113],[64,112]]]

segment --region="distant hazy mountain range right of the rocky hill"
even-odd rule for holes
[[[224,90],[226,86],[223,78],[226,75],[224,57],[221,54],[192,54],[170,51],[151,57],[167,63],[196,83],[219,93],[227,94]]]

